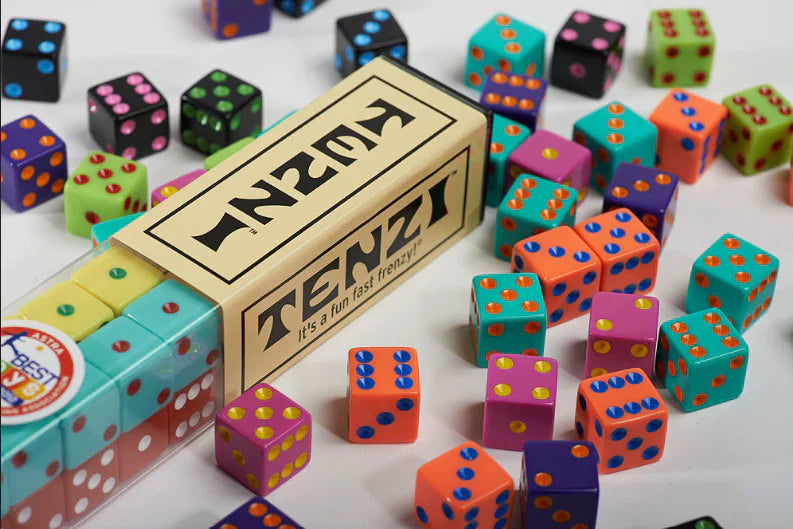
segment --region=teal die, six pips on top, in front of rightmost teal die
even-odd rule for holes
[[[719,309],[661,325],[655,371],[685,411],[738,398],[748,360],[749,346]]]

